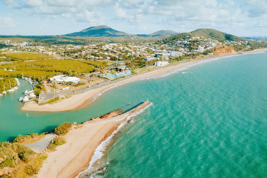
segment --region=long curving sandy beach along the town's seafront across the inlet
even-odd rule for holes
[[[267,50],[267,48],[256,49],[253,51],[246,51],[243,53],[256,53],[256,52],[261,52],[263,50]],[[208,60],[208,59],[212,59],[212,58],[223,57],[223,56],[228,56],[228,55],[233,55],[233,54],[238,54],[238,53],[236,52],[236,53],[218,54],[218,55],[210,56],[210,57],[204,58],[204,59],[194,60],[194,61],[190,61],[190,62],[186,62],[186,63],[173,64],[173,65],[170,65],[169,67],[153,70],[151,72],[143,73],[143,74],[140,74],[138,76],[133,76],[133,77],[130,77],[130,78],[125,79],[125,80],[120,80],[116,83],[113,83],[113,84],[110,84],[107,86],[103,86],[101,88],[93,89],[93,90],[87,91],[85,93],[74,95],[71,98],[65,99],[61,102],[54,103],[54,104],[46,104],[46,105],[39,106],[38,104],[36,104],[33,101],[27,102],[22,107],[22,110],[24,110],[24,111],[51,111],[51,112],[77,110],[77,109],[80,109],[82,107],[88,106],[91,102],[94,101],[95,95],[97,95],[98,93],[102,92],[103,90],[108,89],[114,85],[122,84],[122,83],[125,83],[127,81],[131,81],[131,80],[137,80],[137,79],[141,79],[141,78],[158,76],[158,75],[164,74],[166,72],[172,71],[174,69],[177,69],[179,67],[183,67],[183,66],[188,65],[188,64],[197,63],[200,61],[204,61],[204,60]]]

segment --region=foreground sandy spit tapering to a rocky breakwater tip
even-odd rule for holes
[[[98,145],[106,141],[108,137],[114,136],[114,132],[118,131],[119,126],[125,123],[129,117],[142,112],[149,106],[151,106],[151,103],[147,101],[120,115],[95,122],[73,125],[71,130],[63,136],[67,143],[58,146],[56,151],[47,153],[48,157],[37,177],[74,178],[78,176],[79,173],[87,170],[89,165],[91,166],[91,159],[95,155]],[[103,149],[105,150],[105,147]]]

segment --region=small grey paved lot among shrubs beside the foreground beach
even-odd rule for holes
[[[53,134],[53,138],[55,137],[56,135]],[[28,146],[36,153],[42,153],[44,150],[46,150],[51,140],[52,140],[52,134],[49,133],[49,134],[46,134],[46,136],[43,137],[42,140],[34,142],[34,143],[26,144],[25,146]]]

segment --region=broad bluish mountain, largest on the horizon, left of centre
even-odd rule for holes
[[[97,27],[90,27],[86,28],[80,32],[75,32],[75,33],[69,33],[63,36],[68,36],[68,37],[76,37],[76,36],[81,36],[81,37],[99,37],[99,36],[105,36],[105,37],[118,37],[118,36],[130,36],[131,34],[129,33],[124,33],[120,32],[117,30],[114,30],[106,25],[100,25]]]

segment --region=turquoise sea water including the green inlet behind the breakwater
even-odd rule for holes
[[[21,111],[21,103],[11,99],[18,99],[29,86],[25,83],[17,93],[0,98],[0,141],[51,131],[64,121],[79,123],[118,108],[126,111],[147,98],[153,103],[133,116],[132,123],[122,125],[109,146],[100,145],[96,157],[101,149],[105,154],[90,171],[106,172],[87,171],[79,177],[267,175],[266,52],[212,59],[128,82],[79,111]]]

